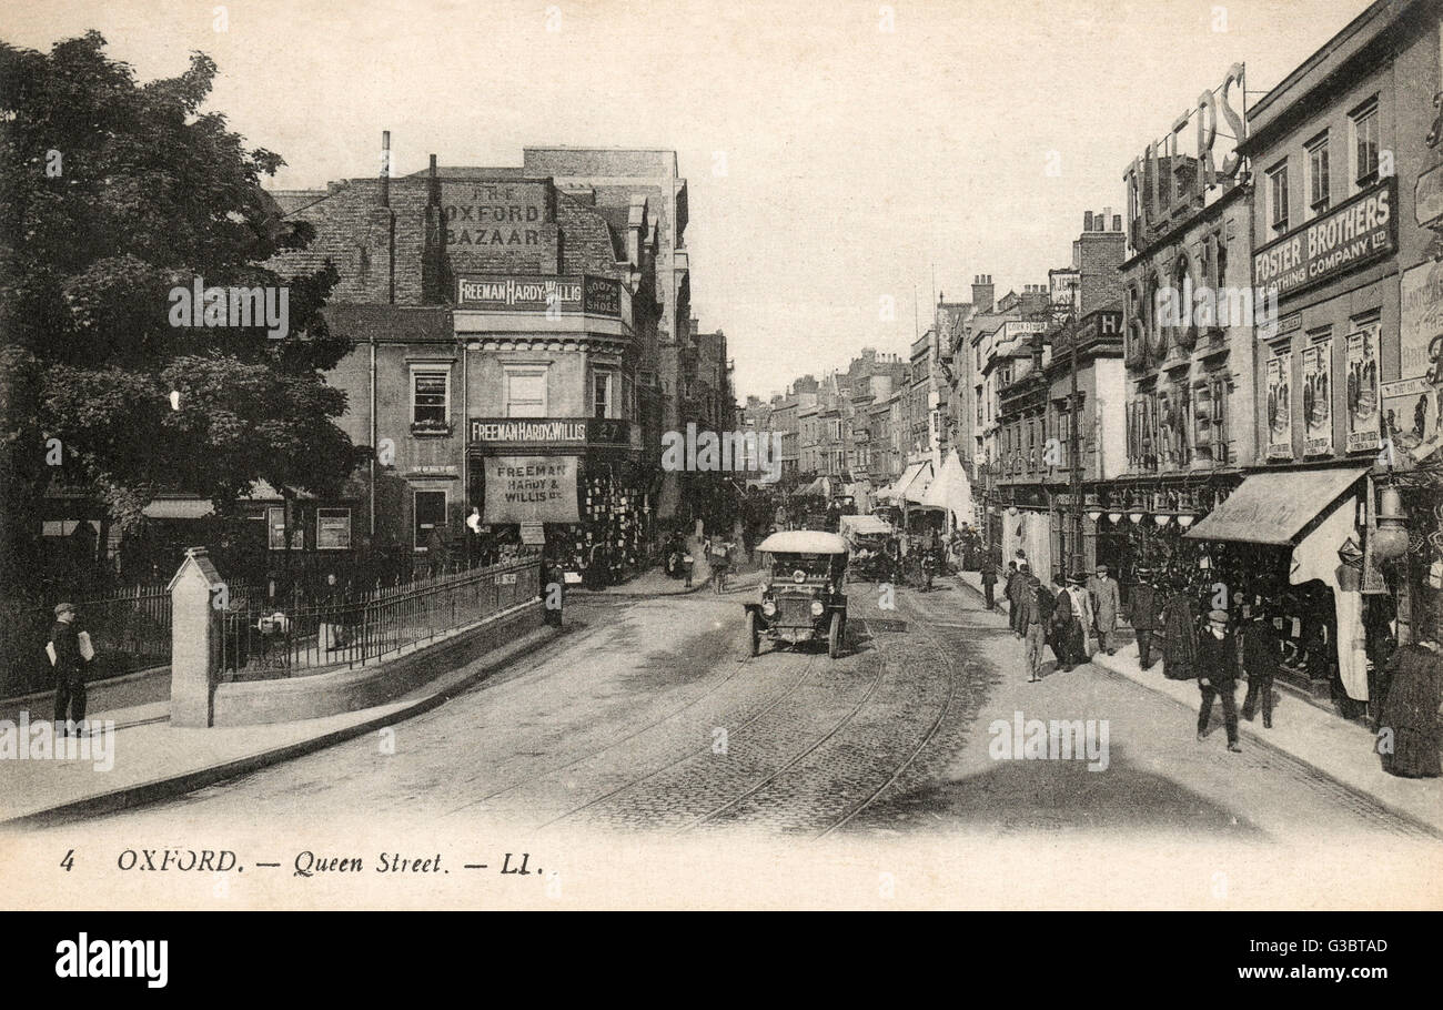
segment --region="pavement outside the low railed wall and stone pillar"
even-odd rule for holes
[[[179,729],[170,703],[88,713],[114,720],[113,768],[105,760],[0,760],[0,828],[52,824],[177,796],[333,743],[378,730],[446,701],[512,659],[540,648],[556,629],[538,628],[395,701],[325,719],[266,726]],[[39,713],[48,719],[48,713]]]

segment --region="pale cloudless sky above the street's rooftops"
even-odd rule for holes
[[[1367,0],[231,0],[224,32],[218,7],[10,0],[0,39],[95,27],[143,81],[209,53],[209,108],[286,159],[277,188],[372,175],[382,130],[400,175],[672,149],[693,312],[745,400],[867,345],[906,355],[913,291],[925,329],[935,289],[1045,283],[1231,63],[1255,101]]]

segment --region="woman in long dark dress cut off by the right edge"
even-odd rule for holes
[[[1439,768],[1439,701],[1443,655],[1424,638],[1388,658],[1388,694],[1378,716],[1378,753],[1388,775],[1436,778]]]

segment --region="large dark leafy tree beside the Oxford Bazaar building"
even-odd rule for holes
[[[345,394],[322,375],[352,346],[319,315],[335,270],[264,265],[315,237],[261,189],[284,162],[201,111],[203,53],[137,84],[104,46],[97,32],[49,53],[0,42],[0,580],[35,563],[56,480],[128,530],[160,488],[232,514],[257,478],[333,495],[369,454],[335,426]],[[198,277],[284,287],[289,332],[173,325],[172,291]]]

